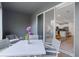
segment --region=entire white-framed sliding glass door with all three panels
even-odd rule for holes
[[[61,41],[60,51],[74,56],[75,4],[61,3],[37,16],[39,39],[52,45],[53,40]]]

